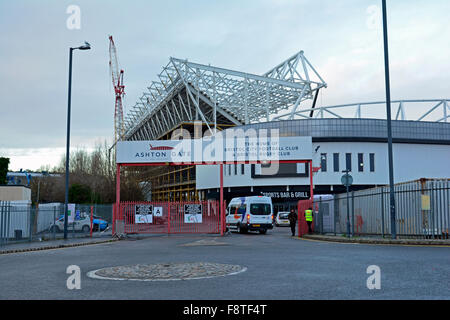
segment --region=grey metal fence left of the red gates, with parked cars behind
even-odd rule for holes
[[[68,223],[68,237],[111,236],[112,205],[75,205],[75,221]],[[64,236],[64,204],[33,206],[0,201],[0,246],[60,239]]]

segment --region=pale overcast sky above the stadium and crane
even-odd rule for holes
[[[68,29],[68,6],[81,10]],[[376,6],[376,7],[374,7]],[[327,82],[319,105],[385,99],[381,1],[0,0],[0,156],[10,170],[56,165],[71,148],[112,142],[108,35],[125,70],[125,112],[170,56],[262,74],[304,50]],[[448,0],[388,0],[392,99],[449,98]],[[416,110],[420,112],[420,110]]]

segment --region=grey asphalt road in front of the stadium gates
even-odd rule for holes
[[[221,246],[183,246],[201,239]],[[239,264],[247,271],[200,280],[140,282],[86,276],[104,267],[163,262]],[[81,289],[66,287],[78,265]],[[367,267],[381,289],[366,286]],[[0,256],[0,299],[450,299],[450,248],[299,240],[289,228],[214,236],[153,236]]]

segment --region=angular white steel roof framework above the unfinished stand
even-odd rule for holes
[[[217,124],[271,121],[286,110],[292,119],[327,86],[303,51],[263,75],[170,58],[158,78],[127,114],[125,140],[158,139],[196,120],[213,131]]]

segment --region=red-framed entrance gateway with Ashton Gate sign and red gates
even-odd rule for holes
[[[309,137],[234,138],[119,141],[116,149],[116,203],[113,235],[139,233],[217,233],[225,232],[226,203],[223,194],[224,164],[305,163],[310,170],[310,196],[313,196],[312,142]],[[231,143],[231,144],[230,144]],[[231,145],[231,147],[230,147]],[[268,148],[267,146],[270,146]],[[237,150],[243,150],[237,152]],[[276,150],[276,151],[274,151]],[[282,152],[283,150],[292,150]],[[122,167],[219,165],[219,201],[121,202]]]

